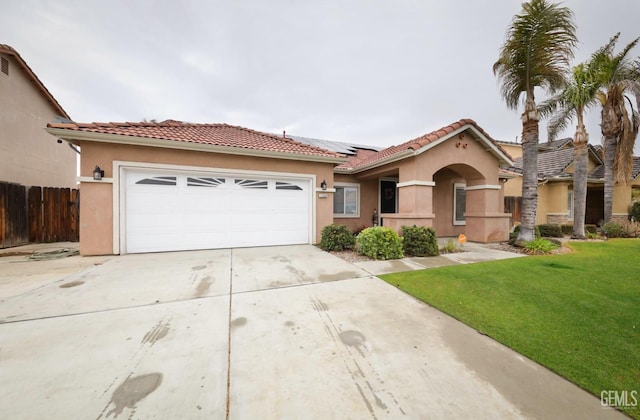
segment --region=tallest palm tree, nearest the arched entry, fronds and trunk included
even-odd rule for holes
[[[564,86],[573,48],[577,43],[573,12],[567,7],[531,0],[513,18],[500,48],[493,73],[501,81],[507,107],[518,109],[525,94],[522,113],[522,220],[516,244],[535,238],[538,206],[538,122],[534,90],[555,93]]]

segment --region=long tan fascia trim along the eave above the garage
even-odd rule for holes
[[[47,128],[46,131],[53,136],[63,138],[64,140],[76,145],[79,145],[78,142],[80,141],[92,141],[96,143],[112,143],[112,144],[126,144],[130,146],[161,147],[165,149],[190,150],[190,151],[207,152],[207,153],[223,153],[223,154],[229,154],[229,155],[264,157],[264,158],[273,158],[273,159],[303,160],[308,162],[340,164],[340,163],[346,162],[347,160],[346,157],[313,156],[313,155],[304,155],[299,153],[243,149],[239,147],[216,146],[216,145],[202,144],[202,143],[187,143],[187,142],[180,142],[175,140],[165,140],[165,139],[156,139],[156,138],[148,138],[148,137],[92,133],[92,132],[84,132],[84,131],[67,130],[64,128]]]

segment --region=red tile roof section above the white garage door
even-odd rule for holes
[[[47,127],[69,130],[70,132],[172,140],[182,143],[292,153],[322,158],[344,157],[344,155],[339,153],[299,143],[289,138],[228,124],[191,124],[166,120],[159,123],[50,123]],[[69,137],[73,138],[73,135],[70,134]]]

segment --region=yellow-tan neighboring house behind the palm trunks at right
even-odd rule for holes
[[[522,196],[522,146],[500,142],[515,164],[506,168],[505,196]],[[600,224],[604,218],[604,164],[597,147],[589,145],[587,208],[585,223]],[[633,189],[640,188],[640,158],[634,158],[632,181],[614,187],[613,217],[629,217]],[[508,178],[508,179],[507,179]],[[537,224],[573,223],[573,142],[571,138],[540,143],[538,147]]]

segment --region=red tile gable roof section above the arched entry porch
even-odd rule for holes
[[[509,159],[511,156],[507,153],[499,144],[496,142],[487,132],[485,132],[475,121],[472,119],[461,119],[459,121],[454,122],[453,124],[449,124],[445,127],[442,127],[438,130],[432,131],[420,137],[417,137],[413,140],[409,140],[405,143],[402,143],[398,146],[391,146],[386,149],[383,149],[376,153],[369,153],[366,156],[362,156],[360,153],[350,158],[348,161],[338,165],[336,169],[338,170],[355,170],[358,168],[362,168],[364,166],[375,164],[377,161],[381,161],[386,158],[391,158],[394,155],[399,155],[402,152],[406,151],[416,151],[424,146],[433,143],[441,138],[453,133],[454,131],[464,127],[465,125],[471,125],[476,128],[484,137],[486,137],[498,150],[504,153]]]

